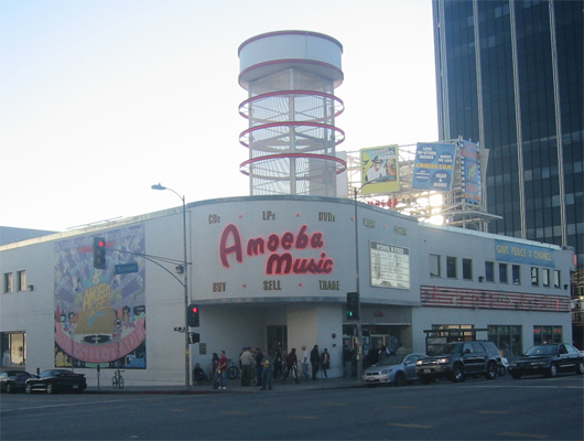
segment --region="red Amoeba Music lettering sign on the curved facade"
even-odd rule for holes
[[[263,256],[268,254],[266,260],[266,275],[329,275],[333,272],[335,261],[322,251],[318,258],[294,258],[291,251],[294,249],[323,249],[323,233],[306,233],[307,225],[302,225],[299,233],[294,235],[285,232],[281,236],[271,234],[268,238],[256,237],[248,239],[245,246],[245,254],[248,257]],[[229,256],[235,258],[237,263],[244,262],[244,239],[236,225],[227,225],[219,240],[219,259],[225,268],[230,268]]]

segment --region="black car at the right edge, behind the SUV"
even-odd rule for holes
[[[515,379],[522,375],[555,377],[561,372],[584,374],[584,354],[567,343],[532,346],[522,357],[509,363],[508,372]]]

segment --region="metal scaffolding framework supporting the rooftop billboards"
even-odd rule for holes
[[[477,170],[479,173],[479,186],[476,195],[469,195],[466,189],[468,181],[468,166],[465,163],[465,146],[469,141],[462,138],[442,140],[433,144],[452,144],[455,149],[455,161],[452,173],[452,185],[448,191],[420,190],[414,185],[414,171],[417,166],[417,152],[419,144],[398,146],[398,179],[399,190],[389,193],[361,192],[358,196],[360,202],[376,205],[381,208],[392,209],[401,214],[414,216],[422,222],[442,224],[447,226],[463,227],[479,232],[487,232],[487,225],[491,220],[500,219],[500,216],[486,213],[486,169],[488,162],[488,150],[476,149]],[[425,143],[424,143],[425,144]],[[432,144],[432,143],[429,143]],[[476,146],[476,144],[474,144]],[[347,179],[348,195],[354,195],[355,189],[364,186],[361,151],[347,151]],[[366,185],[366,184],[365,184]]]

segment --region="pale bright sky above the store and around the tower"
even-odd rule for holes
[[[0,0],[0,226],[249,195],[238,49],[343,44],[338,151],[437,140],[431,0]]]

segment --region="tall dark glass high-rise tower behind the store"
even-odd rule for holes
[[[489,149],[490,232],[573,247],[584,299],[583,6],[433,0],[441,139]]]

